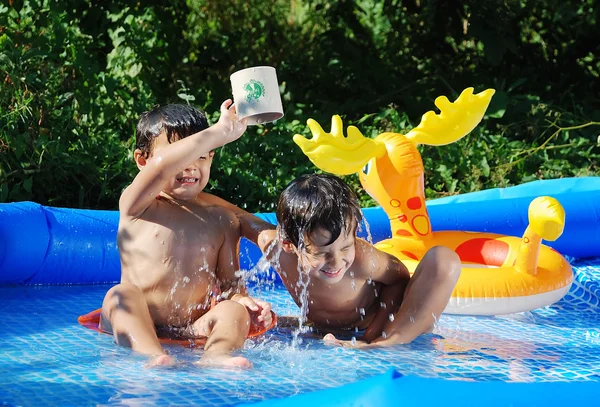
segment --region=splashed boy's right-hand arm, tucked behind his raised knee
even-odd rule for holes
[[[369,243],[364,242],[369,245]],[[370,246],[370,245],[369,245]],[[410,280],[410,273],[402,262],[387,253],[369,247],[365,252],[372,279],[381,283],[379,307],[375,317],[365,330],[361,339],[370,342],[381,336],[383,327],[389,321],[390,314],[395,315],[402,304],[404,291]],[[385,305],[381,305],[385,304]]]

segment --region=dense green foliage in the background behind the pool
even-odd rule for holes
[[[210,184],[252,211],[315,171],[292,142],[309,117],[406,133],[468,86],[496,94],[471,135],[420,147],[429,197],[599,174],[595,0],[109,3],[0,5],[0,202],[116,209],[140,113],[183,102],[214,122],[255,65],[277,68],[285,116],[220,149]]]

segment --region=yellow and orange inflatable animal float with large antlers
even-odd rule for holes
[[[323,171],[358,172],[365,191],[390,219],[392,237],[376,243],[377,248],[398,257],[411,272],[433,246],[456,251],[463,269],[445,310],[451,314],[499,315],[543,307],[560,300],[573,281],[566,259],[541,243],[556,240],[563,231],[565,213],[554,198],[531,202],[529,226],[520,238],[431,229],[417,145],[440,146],[467,135],[483,118],[493,94],[493,89],[473,94],[473,88],[468,88],[454,103],[440,96],[435,100],[440,113],[425,113],[406,135],[382,133],[370,139],[350,126],[344,136],[341,118],[333,116],[331,133],[309,119],[313,138],[294,136],[294,142]]]

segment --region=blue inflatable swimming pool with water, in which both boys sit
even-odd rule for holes
[[[563,235],[548,243],[572,260],[575,271],[569,293],[557,304],[505,317],[444,315],[433,335],[368,352],[330,348],[318,339],[275,330],[244,349],[255,364],[252,373],[200,371],[187,365],[166,372],[140,369],[142,358],[76,322],[77,315],[99,306],[109,286],[97,284],[119,279],[118,214],[31,202],[2,204],[0,340],[5,345],[0,376],[5,383],[0,385],[0,402],[595,402],[600,394],[600,260],[575,259],[600,257],[600,178],[535,181],[434,200],[427,208],[434,230],[520,235],[527,225],[527,206],[538,195],[557,198],[567,214]],[[388,238],[387,215],[379,208],[364,212],[373,241]],[[274,221],[273,214],[260,216]],[[361,233],[366,236],[366,228]],[[252,268],[259,257],[253,245],[241,246],[244,268]],[[267,281],[254,283],[255,295],[271,300],[280,315],[297,314],[287,293],[268,274],[263,276]],[[183,360],[197,356],[195,350],[173,352]]]

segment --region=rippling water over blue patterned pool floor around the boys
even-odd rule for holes
[[[228,406],[340,386],[397,369],[470,381],[600,381],[600,259],[575,262],[559,303],[499,317],[443,315],[409,345],[356,351],[275,329],[248,340],[251,370],[200,368],[200,349],[169,346],[181,362],[146,358],[77,324],[110,285],[0,288],[0,405]],[[254,287],[279,315],[299,310],[282,288]]]

